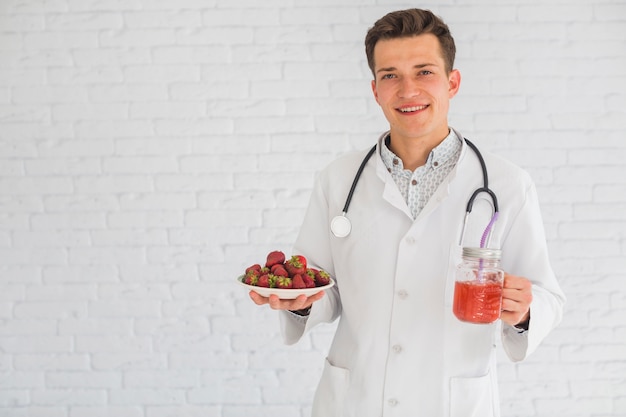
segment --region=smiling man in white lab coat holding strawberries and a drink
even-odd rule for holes
[[[521,169],[485,153],[499,218],[491,247],[506,271],[499,323],[469,324],[452,313],[460,246],[477,247],[494,203],[478,154],[448,126],[461,76],[448,27],[419,9],[390,13],[365,39],[372,91],[389,122],[333,235],[365,152],[331,163],[316,180],[295,253],[336,285],[295,300],[264,298],[281,310],[285,342],[339,318],[313,402],[314,417],[499,416],[495,339],[524,359],[561,320],[565,297],[550,267],[535,187]],[[464,241],[459,242],[462,230]]]

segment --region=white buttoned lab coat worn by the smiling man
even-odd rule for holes
[[[337,238],[329,224],[365,154],[348,154],[320,173],[294,246],[337,285],[308,318],[280,313],[287,344],[339,318],[313,417],[499,416],[497,335],[510,359],[522,360],[559,323],[565,301],[548,262],[530,177],[483,152],[500,206],[490,246],[502,249],[505,271],[533,282],[530,329],[519,334],[500,321],[468,324],[452,313],[462,220],[483,182],[472,150],[463,144],[456,168],[415,220],[376,152],[348,210],[352,232]],[[462,246],[480,245],[489,201],[484,193],[477,198]]]

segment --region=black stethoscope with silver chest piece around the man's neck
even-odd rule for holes
[[[491,201],[493,203],[494,215],[492,217],[491,223],[489,224],[488,230],[491,229],[491,226],[493,225],[493,222],[495,222],[495,220],[497,219],[498,212],[499,212],[498,198],[496,197],[496,194],[489,188],[489,177],[487,175],[487,166],[485,164],[485,160],[483,159],[483,156],[481,155],[476,145],[474,145],[472,142],[470,142],[467,139],[465,139],[465,142],[472,149],[472,151],[474,151],[474,153],[476,154],[476,157],[478,158],[478,161],[480,162],[480,167],[481,167],[482,174],[483,174],[483,186],[480,188],[477,188],[472,193],[472,196],[469,198],[467,202],[467,207],[465,210],[465,217],[463,218],[463,226],[461,229],[461,238],[460,238],[459,244],[463,242],[463,237],[465,236],[465,228],[467,226],[467,220],[469,218],[470,213],[472,212],[474,200],[476,199],[478,194],[487,193],[491,197]],[[376,147],[377,145],[374,145],[372,149],[369,150],[367,155],[365,155],[365,158],[363,158],[363,161],[361,162],[361,165],[359,166],[359,169],[356,172],[356,175],[354,176],[354,180],[352,181],[352,186],[350,187],[350,191],[348,192],[348,197],[346,198],[346,203],[343,206],[343,210],[341,214],[333,217],[333,219],[330,222],[330,231],[336,237],[340,237],[340,238],[346,237],[352,231],[352,223],[350,222],[350,219],[347,217],[348,208],[350,207],[350,202],[352,201],[352,195],[354,194],[356,185],[359,182],[359,179],[361,178],[363,169],[365,169],[365,165],[370,160],[372,155],[374,155],[374,153],[376,152]],[[483,241],[485,238],[486,236],[483,236]],[[484,242],[481,242],[481,243],[484,243]]]

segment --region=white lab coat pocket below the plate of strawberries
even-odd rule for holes
[[[344,417],[350,371],[324,362],[322,378],[313,399],[313,417]]]

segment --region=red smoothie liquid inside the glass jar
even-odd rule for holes
[[[502,284],[457,281],[454,284],[454,315],[470,323],[493,323],[500,317]]]

